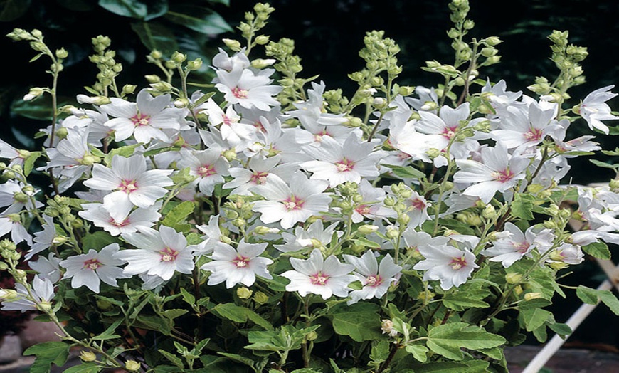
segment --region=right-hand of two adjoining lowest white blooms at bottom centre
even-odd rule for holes
[[[347,302],[349,305],[362,299],[383,298],[391,283],[398,281],[398,275],[402,270],[389,254],[384,256],[379,264],[371,250],[366,251],[360,258],[344,254],[344,260],[354,266],[353,275],[363,285],[361,290],[351,291],[349,294],[351,299]]]

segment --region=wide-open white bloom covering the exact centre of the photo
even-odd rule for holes
[[[264,185],[251,189],[265,198],[253,202],[253,210],[261,214],[265,224],[279,221],[282,228],[292,228],[309,216],[329,210],[331,197],[324,193],[327,187],[324,180],[307,179],[302,172],[292,175],[290,185],[276,174],[269,174]]]

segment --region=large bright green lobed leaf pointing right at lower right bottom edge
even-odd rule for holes
[[[487,349],[504,345],[506,342],[504,337],[487,332],[482,327],[453,322],[430,329],[426,345],[433,352],[448,359],[461,360],[464,358],[461,348]]]

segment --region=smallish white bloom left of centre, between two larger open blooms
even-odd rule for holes
[[[217,184],[226,182],[228,161],[221,156],[221,149],[212,147],[205,150],[181,149],[181,159],[176,162],[178,169],[189,167],[189,174],[196,177],[198,190],[205,196],[211,196]]]

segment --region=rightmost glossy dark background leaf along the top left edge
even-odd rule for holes
[[[174,6],[174,9],[166,14],[166,19],[205,35],[233,31],[222,16],[204,6]]]

